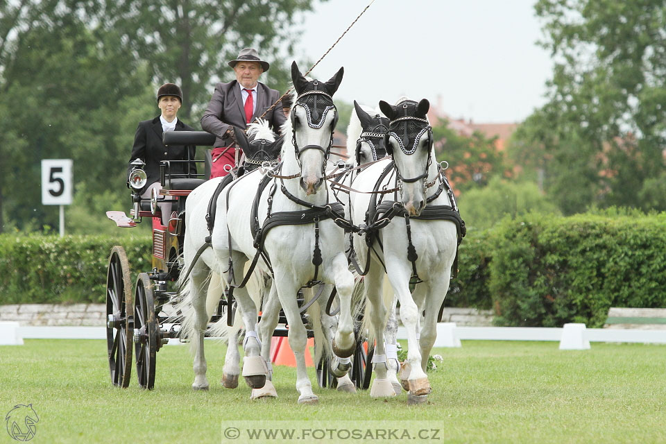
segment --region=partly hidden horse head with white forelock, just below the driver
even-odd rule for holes
[[[273,165],[278,161],[284,137],[275,139],[267,121],[259,119],[256,123],[250,123],[248,135],[244,130],[234,127],[234,135],[245,153],[242,165],[244,173],[251,173],[266,163]]]

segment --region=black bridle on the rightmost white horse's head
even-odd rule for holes
[[[393,162],[393,168],[395,169],[395,174],[397,176],[398,188],[400,189],[400,194],[402,194],[402,183],[413,183],[413,182],[418,182],[418,180],[423,180],[424,191],[427,190],[429,186],[432,187],[431,184],[425,182],[425,179],[428,177],[428,170],[430,168],[430,164],[432,164],[432,147],[433,147],[432,126],[430,126],[430,123],[427,121],[427,119],[422,119],[416,116],[408,116],[407,106],[408,103],[402,104],[401,108],[404,110],[404,116],[398,117],[397,119],[393,119],[392,121],[390,121],[388,123],[388,131],[386,132],[386,135],[384,135],[384,144],[386,145],[386,152],[389,155],[391,155],[391,162]],[[411,130],[409,130],[410,122],[413,123],[411,126],[414,127],[411,128]],[[414,178],[402,177],[402,173],[400,173],[400,169],[398,169],[398,164],[395,163],[395,156],[393,156],[393,148],[391,148],[391,144],[388,143],[388,140],[391,137],[393,137],[393,139],[395,139],[398,142],[400,150],[404,154],[412,155],[413,153],[416,152],[416,148],[418,148],[418,142],[420,142],[421,137],[426,133],[428,137],[428,160],[425,165],[424,173]],[[408,146],[410,139],[413,139],[413,144],[411,144],[411,146]]]

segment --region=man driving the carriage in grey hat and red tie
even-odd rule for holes
[[[279,133],[286,120],[280,103],[268,110],[278,100],[280,93],[258,81],[270,65],[259,58],[256,49],[243,49],[238,58],[231,60],[228,65],[234,69],[236,80],[216,85],[201,118],[201,128],[216,135],[211,153],[211,178],[226,176],[236,163],[234,126],[245,129],[248,123],[266,112],[263,118],[270,123],[275,133]]]

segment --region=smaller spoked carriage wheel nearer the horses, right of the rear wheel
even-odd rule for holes
[[[134,343],[139,386],[153,390],[155,355],[157,354],[157,321],[153,285],[148,273],[140,273],[134,293]]]

